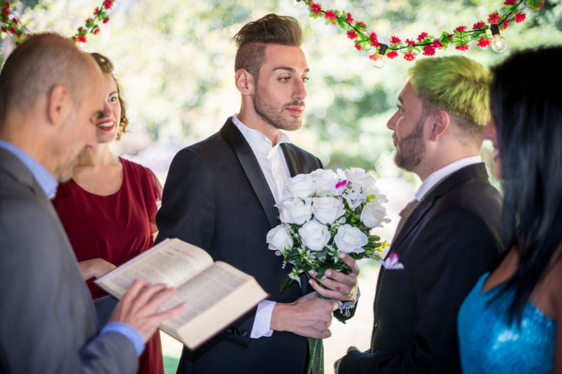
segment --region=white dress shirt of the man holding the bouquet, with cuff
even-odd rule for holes
[[[289,142],[289,137],[285,133],[280,132],[279,135],[277,135],[275,145],[272,145],[271,140],[269,140],[266,135],[244,125],[244,123],[238,119],[237,114],[233,116],[233,123],[238,130],[240,130],[242,135],[244,135],[256,159],[258,159],[261,171],[266,177],[269,188],[275,198],[275,203],[278,203],[281,199],[283,184],[290,176],[289,166],[287,166],[285,154],[283,154],[280,144]],[[263,238],[263,240],[266,240],[266,238]],[[274,306],[275,302],[271,300],[263,300],[258,304],[254,326],[251,328],[251,338],[257,339],[262,336],[273,335],[270,324]]]

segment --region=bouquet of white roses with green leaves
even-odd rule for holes
[[[318,169],[285,182],[283,199],[275,205],[281,224],[268,232],[271,251],[283,256],[292,270],[280,284],[284,290],[300,274],[311,269],[318,277],[333,269],[348,274],[351,269],[338,258],[340,252],[355,260],[373,258],[388,246],[371,229],[386,222],[388,200],[379,192],[374,177],[362,168],[345,171]]]

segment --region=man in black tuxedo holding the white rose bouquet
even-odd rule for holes
[[[176,237],[200,246],[214,260],[254,276],[270,295],[202,347],[184,348],[178,373],[303,373],[308,338],[327,338],[337,300],[355,300],[359,269],[351,257],[344,259],[351,274],[331,272],[318,281],[328,289],[303,280],[280,293],[289,268],[266,244],[269,230],[280,223],[274,205],[283,182],[322,167],[280,131],[302,123],[309,69],[301,39],[294,18],[270,14],[245,25],[235,36],[240,113],[171,163],[156,217],[157,241]],[[334,300],[315,298],[314,290]]]

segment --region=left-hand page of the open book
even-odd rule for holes
[[[212,263],[211,256],[201,248],[179,239],[166,239],[105,274],[96,283],[121,298],[135,279],[178,287]]]

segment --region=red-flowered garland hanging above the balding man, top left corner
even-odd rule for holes
[[[103,0],[101,6],[98,6],[93,11],[93,17],[88,18],[84,26],[77,29],[76,34],[74,34],[71,39],[73,39],[77,44],[86,43],[86,35],[93,34],[97,35],[100,33],[100,27],[98,22],[107,23],[110,20],[110,16],[107,15],[107,11],[110,11],[113,6],[113,0]],[[22,43],[27,36],[30,36],[29,30],[21,24],[18,18],[14,15],[13,6],[4,0],[0,0],[0,34],[4,37],[5,34],[13,35],[13,41],[15,45]]]

